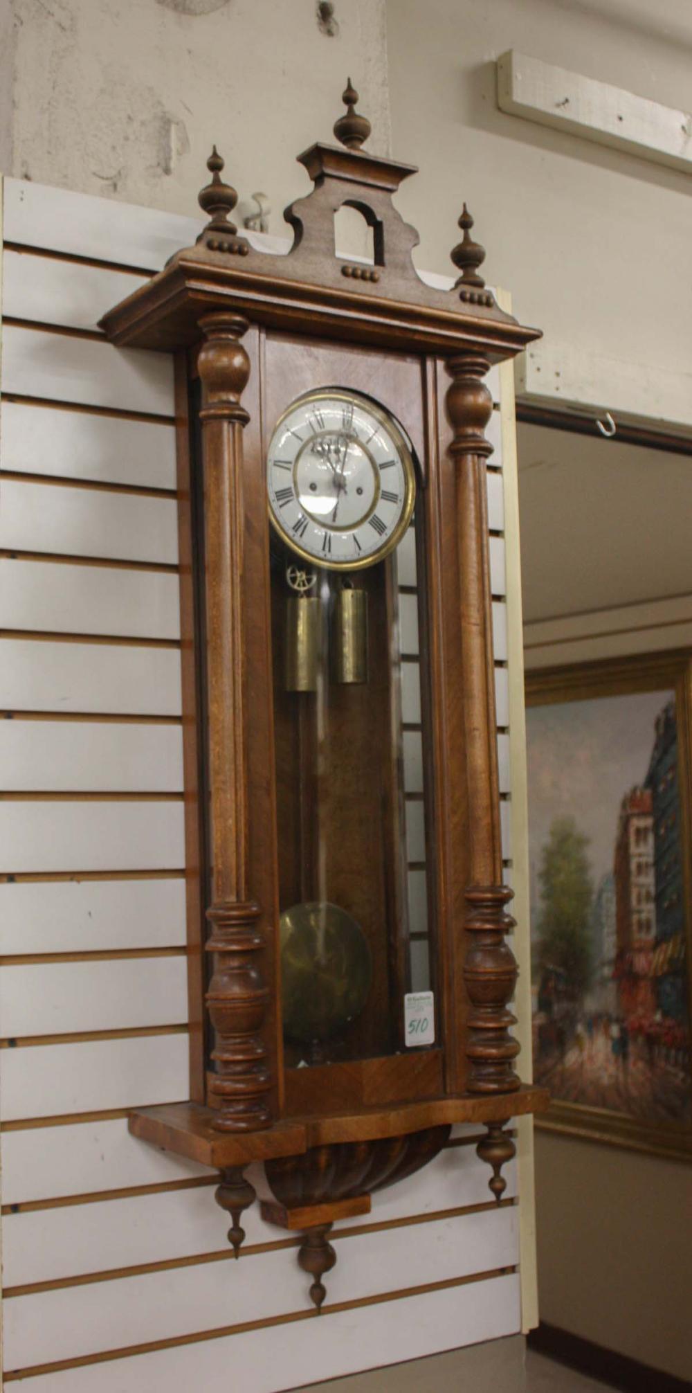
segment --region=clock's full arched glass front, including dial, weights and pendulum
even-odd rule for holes
[[[434,1039],[423,493],[405,432],[324,389],[266,460],[281,999],[291,1068]],[[422,1032],[420,1032],[422,1031]],[[407,1038],[408,1036],[408,1038]]]

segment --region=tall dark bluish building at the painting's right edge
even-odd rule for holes
[[[685,894],[678,801],[678,733],[675,698],[656,720],[646,788],[652,795],[656,942],[652,974],[656,1006],[663,1017],[685,1024]]]

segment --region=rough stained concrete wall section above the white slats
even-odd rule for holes
[[[194,213],[216,142],[281,231],[349,74],[384,153],[384,0],[0,0],[0,169]]]

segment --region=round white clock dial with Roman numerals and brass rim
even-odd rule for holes
[[[368,397],[337,387],[301,397],[267,456],[272,521],[288,546],[333,570],[373,566],[414,511],[411,449]]]

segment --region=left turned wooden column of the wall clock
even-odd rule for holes
[[[214,958],[206,1006],[216,1035],[209,1092],[216,1105],[213,1126],[246,1133],[272,1123],[266,1096],[272,1078],[262,1036],[269,996],[262,976],[265,936],[248,886],[242,595],[242,432],[248,414],[241,405],[249,378],[249,358],[241,343],[248,323],[223,311],[205,315],[200,329],[212,820],[212,932],[206,949]],[[245,1208],[241,1199],[246,1198],[246,1192],[239,1195],[241,1188],[239,1176],[227,1176],[226,1192],[221,1187],[217,1195],[231,1211],[235,1229],[238,1212]],[[224,1198],[233,1202],[224,1204]]]

